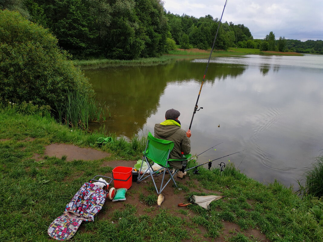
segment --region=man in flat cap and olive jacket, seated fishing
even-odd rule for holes
[[[178,120],[179,116],[179,111],[169,109],[165,113],[166,120],[160,124],[155,124],[154,128],[155,138],[174,142],[174,148],[172,149],[169,158],[177,160],[182,158],[182,152],[184,155],[191,152],[191,130],[185,132],[184,129],[181,129],[181,122]],[[180,169],[177,177],[183,178],[183,176],[186,176],[186,171],[184,172],[187,165],[186,161],[169,161],[168,164],[175,169]]]

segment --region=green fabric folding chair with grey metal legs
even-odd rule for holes
[[[141,167],[139,170],[139,176],[137,179],[137,183],[140,183],[142,180],[144,180],[148,177],[151,177],[151,179],[154,183],[154,186],[156,188],[157,194],[160,194],[162,192],[162,190],[164,190],[164,188],[167,186],[167,184],[171,180],[173,181],[175,187],[177,187],[177,184],[174,180],[174,176],[178,172],[179,169],[175,169],[175,172],[171,173],[171,171],[169,169],[171,167],[169,166],[168,161],[183,161],[183,160],[169,159],[169,154],[171,153],[173,147],[174,147],[173,141],[157,139],[154,136],[152,136],[151,133],[149,132],[145,151],[142,152],[143,157],[142,157],[142,162],[141,162]],[[186,155],[186,159],[189,157],[191,157],[191,154]],[[158,165],[160,165],[161,168],[157,171],[154,171],[152,169],[151,164],[149,163],[148,159],[151,159],[154,163],[157,163]],[[146,169],[145,172],[143,172],[143,174],[141,175],[141,169],[142,169],[142,165],[144,162],[147,163],[148,169]],[[162,169],[164,169],[164,171],[160,172]],[[149,170],[150,170],[150,173],[148,174],[147,172]],[[170,178],[163,186],[166,170],[168,171]],[[160,176],[161,174],[163,174],[163,176],[162,176],[162,180],[161,180],[161,187],[158,191],[155,180],[154,180],[154,176]]]

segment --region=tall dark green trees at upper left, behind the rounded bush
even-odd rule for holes
[[[159,56],[172,44],[160,0],[2,0],[48,28],[75,57]]]

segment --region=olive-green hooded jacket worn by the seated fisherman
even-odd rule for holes
[[[181,125],[174,120],[165,120],[160,124],[155,124],[155,138],[171,140],[174,142],[174,148],[169,155],[170,159],[181,159],[181,152],[187,155],[191,152],[191,141],[186,136],[186,131],[181,129]],[[169,162],[173,168],[182,168],[181,161]]]

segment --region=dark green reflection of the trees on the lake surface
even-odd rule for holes
[[[185,86],[200,82],[205,67],[204,63],[184,60],[167,65],[85,70],[85,74],[90,78],[99,102],[106,102],[110,107],[112,117],[105,123],[106,132],[131,137],[142,130],[149,116],[156,113],[167,83]],[[244,71],[244,65],[211,63],[205,83],[237,78]],[[174,97],[183,95],[177,93],[179,89],[176,88]],[[96,129],[98,124],[92,124],[90,128]]]

